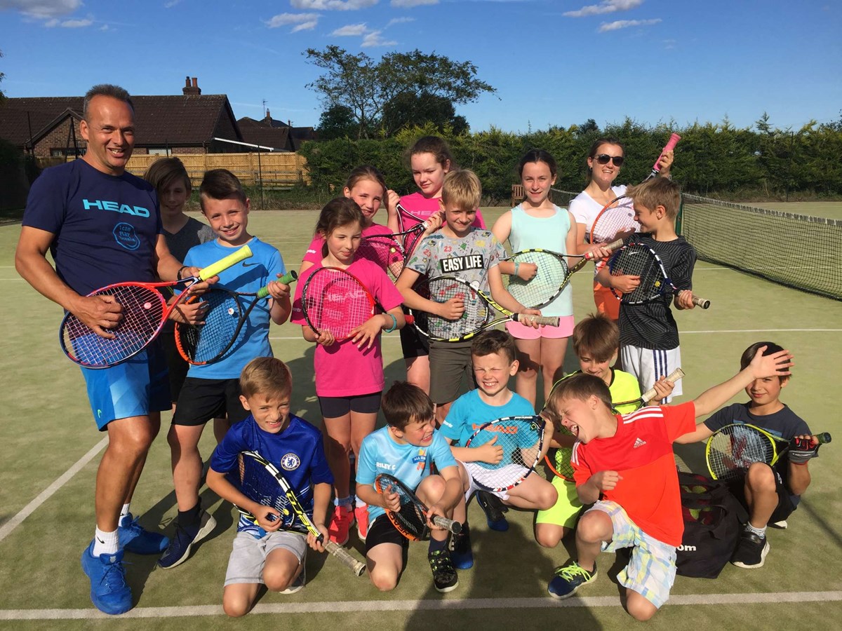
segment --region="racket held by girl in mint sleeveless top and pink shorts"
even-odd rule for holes
[[[622,244],[622,240],[617,240],[606,247],[613,251],[621,247]],[[580,258],[581,260],[576,262],[572,268],[568,268],[566,260],[568,258]],[[561,294],[563,289],[567,287],[573,274],[584,268],[585,264],[593,259],[594,255],[591,252],[587,254],[561,254],[539,248],[514,252],[512,256],[505,260],[514,261],[518,265],[523,263],[535,265],[536,273],[529,280],[524,280],[514,274],[504,276],[504,278],[509,279],[506,289],[521,305],[529,309],[540,309],[555,300],[558,294]]]

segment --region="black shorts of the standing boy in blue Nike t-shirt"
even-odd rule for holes
[[[204,425],[211,418],[226,414],[232,425],[245,421],[250,414],[240,401],[239,379],[184,379],[173,425]]]

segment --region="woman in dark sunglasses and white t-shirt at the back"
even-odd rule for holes
[[[673,165],[673,151],[667,151],[661,156],[658,164],[661,167],[660,175],[669,178],[669,169]],[[623,165],[623,146],[616,138],[600,138],[590,146],[588,152],[588,173],[589,183],[584,191],[570,201],[570,213],[576,220],[576,246],[577,253],[584,254],[590,249],[586,236],[590,232],[590,226],[594,224],[596,215],[612,199],[626,194],[626,185],[612,186],[616,177],[620,174],[620,167]],[[630,199],[621,199],[616,204],[632,204]],[[600,313],[608,315],[611,320],[617,321],[620,317],[620,301],[607,287],[594,281],[594,302]]]

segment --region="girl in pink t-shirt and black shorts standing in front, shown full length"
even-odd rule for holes
[[[383,357],[380,347],[382,330],[394,331],[405,324],[401,310],[402,296],[380,267],[357,257],[362,224],[360,206],[353,199],[339,197],[322,209],[316,234],[324,241],[324,257],[307,268],[298,278],[291,322],[301,325],[307,342],[316,342],[314,369],[316,394],[324,419],[324,444],[336,507],[328,531],[338,544],[348,541],[354,514],[360,522],[360,538],[367,530],[367,506],[360,502],[354,509],[350,496],[349,452],[359,462],[363,438],[374,431],[383,390]],[[301,290],[312,273],[323,267],[347,270],[360,280],[384,312],[373,315],[349,339],[337,342],[330,331],[319,335],[307,325],[301,309]]]

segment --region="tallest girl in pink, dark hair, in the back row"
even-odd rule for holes
[[[408,231],[413,225],[429,220],[433,215],[440,215],[440,221],[436,222],[436,225],[444,221],[440,206],[441,187],[445,183],[445,175],[456,168],[456,162],[450,155],[450,147],[443,139],[427,135],[418,139],[409,150],[409,167],[412,169],[418,192],[404,195],[400,199],[399,207],[389,205],[387,225],[393,232]],[[477,218],[472,225],[485,228],[485,221],[482,220],[482,213],[478,209]],[[419,236],[409,237],[412,243],[404,241],[404,247],[412,249]],[[407,380],[429,393],[427,338],[420,335],[414,327],[407,326],[401,331],[401,349],[407,363]]]

